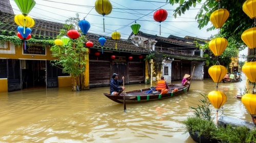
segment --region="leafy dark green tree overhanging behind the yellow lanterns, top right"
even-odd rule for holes
[[[220,28],[220,37],[224,37],[228,40],[229,44],[237,45],[237,47],[242,47],[242,50],[246,47],[241,39],[242,33],[250,28],[254,22],[250,19],[242,10],[243,3],[246,0],[166,0],[171,5],[179,4],[179,6],[174,10],[174,17],[177,15],[181,16],[190,7],[196,7],[197,4],[202,3],[195,19],[198,21],[198,27],[201,29],[209,23],[210,14],[219,8],[227,9],[230,13],[227,21]],[[214,30],[215,27],[212,26],[207,29],[207,31]]]

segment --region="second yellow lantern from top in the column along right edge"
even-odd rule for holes
[[[244,31],[241,38],[250,49],[256,48],[256,27]]]

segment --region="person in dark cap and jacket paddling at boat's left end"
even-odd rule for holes
[[[123,92],[125,87],[119,87],[120,84],[123,83],[124,76],[122,77],[122,80],[118,80],[118,74],[113,73],[112,74],[112,79],[110,81],[110,94],[114,96],[120,95],[120,93]]]

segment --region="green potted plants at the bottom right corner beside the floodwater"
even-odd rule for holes
[[[248,90],[247,90],[248,91]],[[202,94],[201,94],[202,95]],[[191,107],[194,109],[194,117],[188,117],[182,121],[185,125],[185,133],[196,142],[222,142],[222,143],[253,143],[256,142],[256,128],[249,129],[246,126],[226,124],[217,126],[211,116],[210,101],[206,95],[199,102],[202,105]],[[223,113],[223,110],[219,110]]]

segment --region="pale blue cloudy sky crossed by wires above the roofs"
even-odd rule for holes
[[[140,31],[147,34],[159,36],[159,22],[153,19],[156,10],[162,8],[168,12],[168,17],[161,22],[161,36],[175,35],[179,37],[192,36],[207,39],[218,33],[218,30],[207,32],[206,28],[199,30],[195,16],[201,5],[191,8],[189,11],[177,17],[173,16],[176,6],[166,4],[166,0],[112,0],[113,9],[105,16],[105,32],[103,32],[103,16],[95,11],[94,0],[35,0],[36,5],[29,13],[32,18],[45,19],[49,21],[65,23],[69,17],[79,14],[80,19],[84,17],[90,22],[89,33],[102,36],[111,36],[112,32],[121,33],[122,39],[127,39],[132,33],[131,25],[137,20],[141,25]],[[14,14],[20,14],[17,5],[10,0]],[[209,27],[211,23],[209,22]]]

